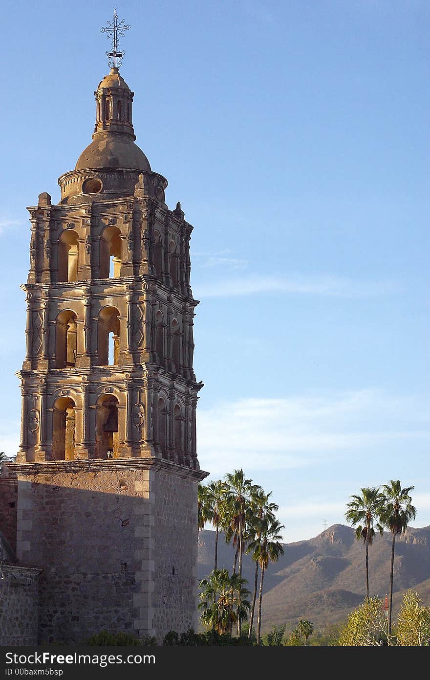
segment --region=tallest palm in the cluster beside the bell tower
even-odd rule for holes
[[[226,539],[233,536],[233,546],[236,546],[238,554],[238,575],[242,577],[242,556],[244,551],[243,534],[246,526],[246,513],[251,494],[261,488],[252,483],[252,479],[246,479],[242,469],[227,473],[224,477],[224,522],[226,523]],[[236,560],[235,560],[236,566]],[[236,568],[233,568],[235,573]],[[241,621],[238,618],[238,635],[241,632]]]

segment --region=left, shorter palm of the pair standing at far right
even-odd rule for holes
[[[379,523],[384,497],[379,489],[365,487],[361,489],[361,496],[351,498],[353,500],[346,505],[345,517],[349,524],[358,524],[355,537],[357,541],[363,539],[365,545],[365,596],[369,598],[369,546],[375,536],[374,526],[380,534],[384,531]]]

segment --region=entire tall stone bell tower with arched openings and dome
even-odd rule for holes
[[[190,235],[135,144],[118,67],[92,142],[29,208],[17,554],[43,568],[40,642],[196,627]]]

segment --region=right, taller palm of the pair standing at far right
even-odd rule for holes
[[[413,486],[401,488],[400,480],[391,479],[389,484],[382,486],[384,507],[382,511],[382,523],[393,534],[391,543],[391,567],[390,567],[390,597],[388,611],[388,634],[391,635],[391,616],[393,613],[393,573],[394,573],[394,551],[395,537],[406,531],[409,522],[415,519],[416,507],[412,505],[412,498],[409,492]]]

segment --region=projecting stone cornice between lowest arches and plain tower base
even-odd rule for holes
[[[48,462],[14,463],[7,466],[11,472],[24,477],[58,475],[79,472],[120,472],[122,470],[153,470],[171,473],[181,479],[201,481],[209,475],[204,470],[194,470],[164,458],[117,458],[115,460],[50,460]]]

